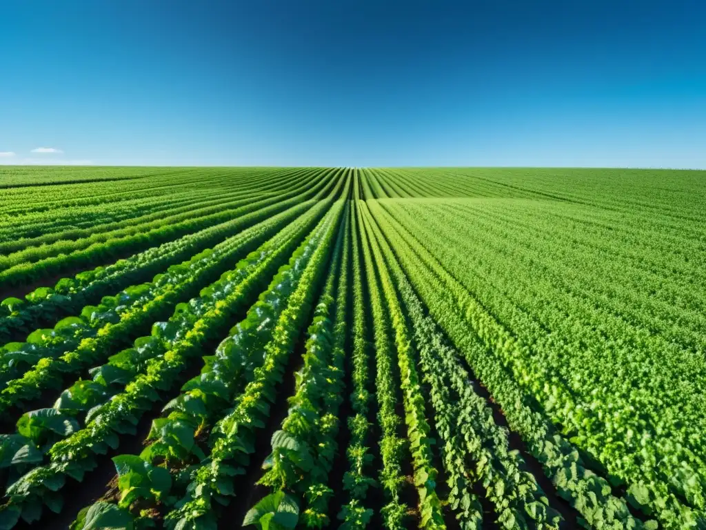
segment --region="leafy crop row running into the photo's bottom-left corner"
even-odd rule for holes
[[[334,196],[331,195],[332,198]],[[116,356],[117,359],[111,359],[112,365],[109,363],[96,370],[94,388],[101,385],[109,389],[116,384],[123,388],[118,394],[107,396],[109,401],[105,401],[104,396],[99,404],[95,404],[95,401],[82,403],[80,408],[83,408],[83,412],[79,411],[79,416],[71,417],[73,403],[70,399],[60,399],[57,403],[59,410],[53,410],[68,415],[64,419],[69,422],[84,418],[85,426],[78,428],[79,425],[74,423],[71,429],[66,429],[71,432],[62,433],[68,437],[59,441],[52,440],[54,443],[47,450],[49,464],[35,467],[8,488],[10,501],[3,511],[6,517],[21,516],[28,521],[35,519],[41,514],[45,499],[56,502],[56,496],[51,493],[55,484],[63,485],[67,475],[80,479],[83,473],[95,466],[95,454],[116,447],[120,435],[134,433],[134,425],[140,416],[151,408],[152,402],[161,399],[160,393],[173,386],[181,376],[184,365],[191,362],[201,352],[201,348],[218,335],[229,318],[242,310],[244,304],[251,299],[253,291],[258,290],[265,278],[271,277],[279,256],[285,255],[287,249],[296,245],[297,231],[306,230],[311,220],[321,216],[317,212],[323,213],[329,202],[316,204],[311,213],[299,218],[291,228],[286,229],[289,233],[285,233],[285,237],[275,238],[269,246],[275,247],[273,250],[276,252],[268,252],[265,247],[261,252],[251,254],[232,273],[224,275],[220,281],[202,291],[201,298],[177,307],[174,317],[168,323],[155,326],[152,337],[138,339],[136,348],[122,352]],[[281,283],[279,276],[276,279]],[[93,394],[92,397],[95,397],[98,393]],[[61,404],[66,404],[67,408],[61,408]],[[89,405],[91,408],[86,411]],[[49,502],[44,503],[52,508]],[[54,505],[54,508],[59,507]]]

